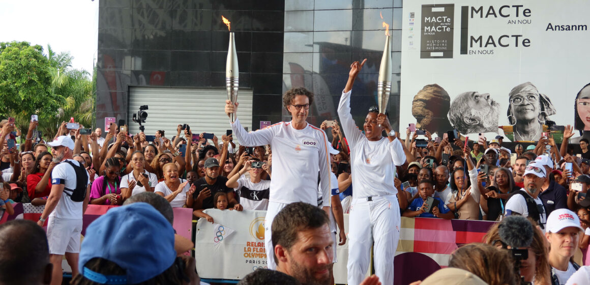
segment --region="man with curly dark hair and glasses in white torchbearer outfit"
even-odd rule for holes
[[[238,103],[225,101],[225,113],[228,117],[235,114],[235,122],[230,125],[240,145],[273,146],[273,179],[270,182],[264,236],[270,269],[276,268],[271,238],[274,216],[293,202],[318,205],[318,171],[322,199],[330,201],[330,156],[327,150],[330,143],[322,129],[306,122],[312,104],[312,92],[303,87],[287,90],[283,95],[283,106],[291,114],[291,121],[276,123],[249,133],[238,119]],[[323,210],[329,215],[330,204],[324,204]]]

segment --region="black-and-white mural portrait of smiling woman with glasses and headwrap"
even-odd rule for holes
[[[507,119],[513,126],[514,140],[539,140],[543,125],[553,114],[555,107],[549,97],[539,93],[532,83],[522,83],[510,90]]]

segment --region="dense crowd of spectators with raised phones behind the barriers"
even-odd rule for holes
[[[154,192],[171,207],[192,208],[196,217],[209,222],[214,220],[207,209],[268,207],[273,176],[271,145],[236,145],[230,132],[221,137],[213,135],[212,139],[206,139],[209,136],[205,133],[194,136],[184,122],[171,138],[165,136],[169,130],[159,130],[153,136],[130,134],[126,126],[112,124],[104,134],[96,129],[82,135],[83,127],[68,126],[63,123],[55,137],[45,139],[50,142],[67,135],[74,140],[73,159],[89,173],[90,204],[123,205],[133,196]],[[37,122],[33,121],[28,132],[21,133],[9,120],[0,122],[0,216],[4,212],[12,214],[15,202],[47,202],[51,172],[57,163],[44,138],[36,137],[35,127]],[[355,191],[350,149],[336,120],[324,121],[320,129],[331,135],[330,165],[337,178],[336,200],[342,204],[331,203],[337,208],[333,214],[338,227],[333,231],[340,231],[341,241],[345,241],[342,234],[348,229],[343,228],[341,212],[348,213]],[[532,243],[524,247],[529,258],[517,261],[525,281],[565,284],[580,266],[590,266],[588,140],[582,138],[579,145],[569,144],[571,126],[564,127],[560,144],[551,132],[543,133],[534,143],[504,142],[502,136],[487,139],[455,134],[437,137],[428,130],[411,132],[408,128],[405,139],[395,136],[406,158],[394,173],[402,217],[502,221],[522,215],[529,218],[534,232]],[[22,143],[16,144],[18,141]],[[485,242],[510,248],[497,244],[501,241],[494,233],[497,228],[491,228]],[[544,244],[550,244],[550,249]],[[477,258],[474,253],[500,260],[508,254],[496,253],[485,245],[470,245],[460,248],[453,258],[465,263],[466,258]],[[491,277],[462,269],[489,284],[513,284],[510,280],[514,276],[503,276],[500,279],[504,281],[495,283]],[[518,274],[514,280],[519,280]]]

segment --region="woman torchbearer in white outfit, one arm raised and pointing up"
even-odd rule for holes
[[[373,246],[376,276],[383,284],[393,284],[394,255],[401,227],[395,171],[396,166],[404,165],[407,160],[401,140],[389,125],[387,114],[383,114],[385,110],[369,109],[364,133],[350,114],[352,86],[365,62],[366,59],[350,65],[348,82],[338,105],[338,117],[350,147],[354,189],[349,216],[348,283],[360,284],[365,279]],[[387,133],[385,137],[383,130]],[[403,199],[406,198],[404,195]]]

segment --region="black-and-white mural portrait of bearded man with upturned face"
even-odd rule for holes
[[[462,134],[496,133],[500,103],[491,99],[490,94],[469,91],[459,94],[448,110],[448,119]]]

